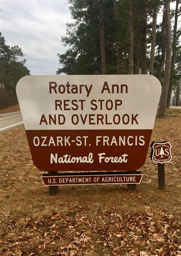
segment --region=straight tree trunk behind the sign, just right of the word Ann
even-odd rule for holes
[[[130,1],[129,7],[129,50],[128,50],[128,66],[129,74],[133,75],[133,6],[132,1]]]

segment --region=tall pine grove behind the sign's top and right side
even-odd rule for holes
[[[69,0],[68,23],[57,74],[151,74],[162,84],[159,117],[180,105],[180,0]],[[170,10],[170,2],[176,3]],[[162,21],[157,22],[162,14]],[[171,26],[171,20],[174,24]]]

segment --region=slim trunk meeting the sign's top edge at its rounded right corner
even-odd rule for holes
[[[152,34],[151,34],[151,52],[150,52],[150,75],[154,75],[154,58],[155,58],[155,38],[157,26],[157,6],[154,7],[153,21],[152,21]]]

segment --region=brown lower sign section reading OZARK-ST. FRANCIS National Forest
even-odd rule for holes
[[[152,130],[26,130],[36,167],[51,171],[138,170]]]

